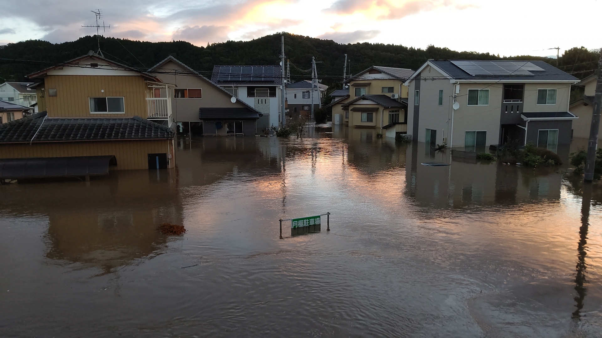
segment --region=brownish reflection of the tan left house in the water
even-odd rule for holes
[[[181,224],[173,175],[161,171],[112,171],[92,182],[10,185],[4,212],[48,220],[46,257],[97,266],[104,273],[157,254],[167,241],[160,223]]]

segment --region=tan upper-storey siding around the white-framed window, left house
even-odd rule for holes
[[[146,118],[146,82],[141,76],[49,75],[44,79],[45,104],[40,111],[48,117],[132,117]],[[57,96],[48,96],[55,88]],[[101,90],[104,90],[102,92]],[[125,114],[91,114],[89,97],[123,96]]]

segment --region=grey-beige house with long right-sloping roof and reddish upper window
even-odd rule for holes
[[[161,81],[174,84],[170,108],[176,129],[206,136],[255,136],[262,113],[213,81],[169,56],[148,71]],[[163,99],[166,89],[155,88]]]

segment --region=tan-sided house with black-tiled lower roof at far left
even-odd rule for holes
[[[175,167],[168,100],[149,100],[173,86],[92,51],[29,78],[41,112],[0,124],[0,178]]]

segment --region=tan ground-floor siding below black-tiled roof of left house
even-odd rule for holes
[[[167,153],[173,155],[172,140],[134,141],[76,141],[1,144],[0,158],[46,158],[67,156],[114,155],[117,170],[148,168],[148,154]],[[169,160],[173,167],[175,158]]]

